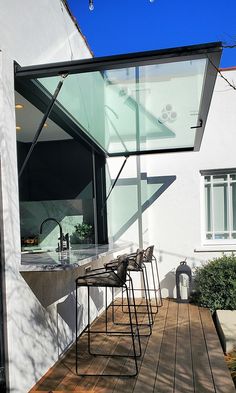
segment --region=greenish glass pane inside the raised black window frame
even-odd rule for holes
[[[206,64],[194,59],[70,74],[58,103],[109,154],[190,148]],[[38,81],[52,94],[58,77]]]

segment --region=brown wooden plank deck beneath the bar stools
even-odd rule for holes
[[[123,321],[127,317],[120,308],[118,315]],[[96,321],[96,327],[102,326],[102,319]],[[141,342],[143,355],[138,360],[137,377],[79,377],[73,347],[30,393],[235,393],[208,310],[165,300],[155,316],[152,335],[142,337]],[[102,374],[104,370],[124,371],[132,366],[132,360],[127,358],[89,356],[86,335],[79,343],[84,370]],[[94,337],[98,351],[124,350],[129,343],[129,337]]]

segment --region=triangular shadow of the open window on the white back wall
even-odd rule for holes
[[[113,241],[117,241],[175,180],[176,176],[174,175],[148,177],[146,173],[141,173],[142,205],[139,208],[138,204],[136,203],[135,205],[134,202],[138,191],[139,179],[119,179],[112,191],[117,212],[115,220],[117,226],[114,230]],[[113,182],[114,180],[111,183]],[[127,209],[127,199],[133,199],[132,203],[128,204],[128,211],[124,210]]]

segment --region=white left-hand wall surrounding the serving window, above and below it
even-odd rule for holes
[[[31,65],[91,57],[60,0],[0,0],[0,160],[6,269],[10,391],[26,393],[74,340],[74,279],[20,274],[20,226],[14,63]],[[66,303],[65,303],[66,301]],[[83,303],[83,294],[81,295]],[[65,304],[64,304],[65,303]],[[86,315],[84,315],[84,318]],[[83,321],[81,321],[81,328]]]

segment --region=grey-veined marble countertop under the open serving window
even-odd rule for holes
[[[21,272],[48,272],[76,269],[99,258],[117,252],[132,252],[132,243],[113,243],[105,245],[77,245],[73,249],[55,250],[35,248],[21,254]]]

